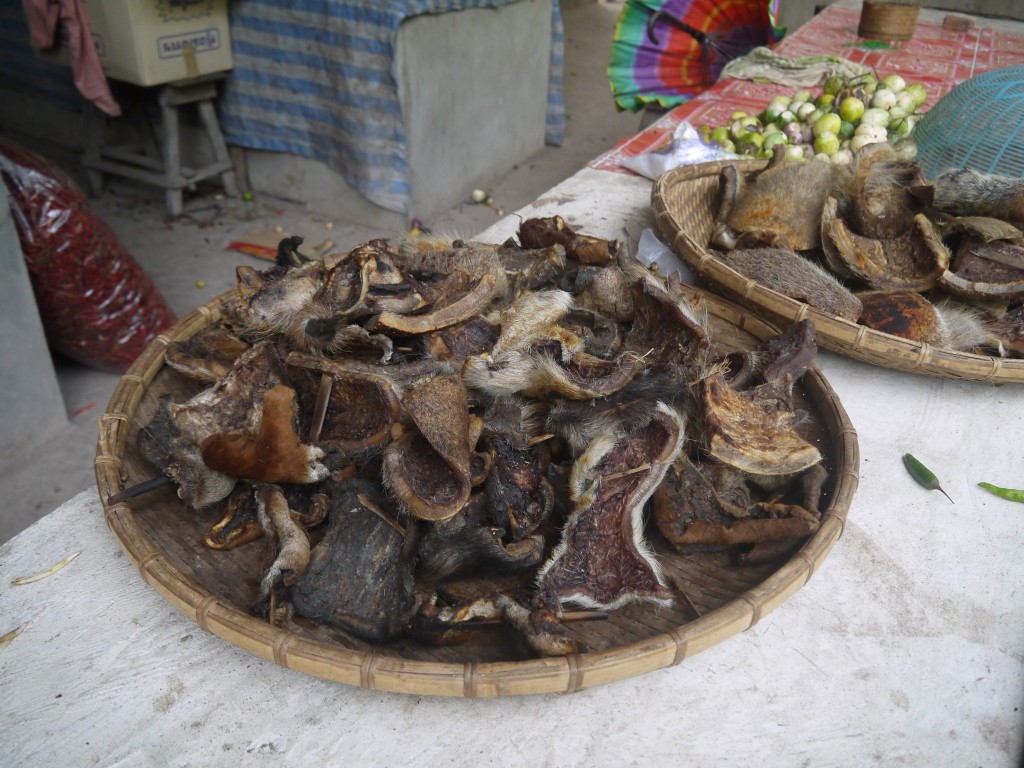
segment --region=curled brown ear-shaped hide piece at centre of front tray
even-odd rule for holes
[[[414,517],[444,520],[472,489],[468,393],[462,379],[442,374],[406,392],[402,409],[415,429],[397,430],[384,452],[384,481]]]

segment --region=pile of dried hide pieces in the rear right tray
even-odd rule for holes
[[[912,141],[850,166],[722,172],[712,246],[741,274],[877,331],[1024,355],[1024,180],[951,170],[927,180]]]

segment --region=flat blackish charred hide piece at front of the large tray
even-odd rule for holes
[[[415,609],[413,558],[408,537],[379,514],[379,492],[359,479],[331,493],[326,534],[292,587],[297,613],[374,642],[391,640]]]

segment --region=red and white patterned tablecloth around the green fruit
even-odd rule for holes
[[[818,54],[842,55],[873,68],[880,77],[900,75],[907,82],[928,87],[925,109],[930,109],[958,83],[990,70],[1024,63],[1024,35],[1000,32],[976,19],[967,32],[943,29],[941,24],[919,19],[910,40],[892,43],[889,48],[858,46],[860,11],[856,8],[829,6],[806,25],[786,36],[774,50],[782,56]],[[646,130],[620,142],[595,158],[590,168],[632,173],[624,168],[625,158],[636,157],[663,144],[684,120],[690,125],[724,125],[729,116],[742,110],[757,114],[771,97],[795,89],[771,83],[724,80],[705,93],[675,108]]]

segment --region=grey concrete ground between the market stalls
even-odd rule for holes
[[[525,206],[637,131],[639,116],[615,111],[605,73],[621,8],[622,2],[608,0],[563,2],[565,141],[560,147],[545,147],[487,184],[496,206],[508,212]],[[28,137],[15,138],[32,145]],[[74,158],[49,156],[81,177]],[[93,202],[179,315],[231,289],[237,265],[267,266],[227,250],[227,244],[245,232],[281,227],[302,236],[308,245],[331,241],[337,251],[401,233],[348,221],[345,211],[330,200],[302,206],[260,197],[243,203],[211,190],[187,199],[185,214],[168,221],[162,193],[110,179]],[[496,211],[466,202],[424,224],[434,232],[472,237],[497,220]],[[0,454],[0,487],[6,502],[0,509],[0,543],[95,483],[96,423],[119,377],[65,360],[54,364],[68,419],[58,420],[30,444],[22,442]]]

